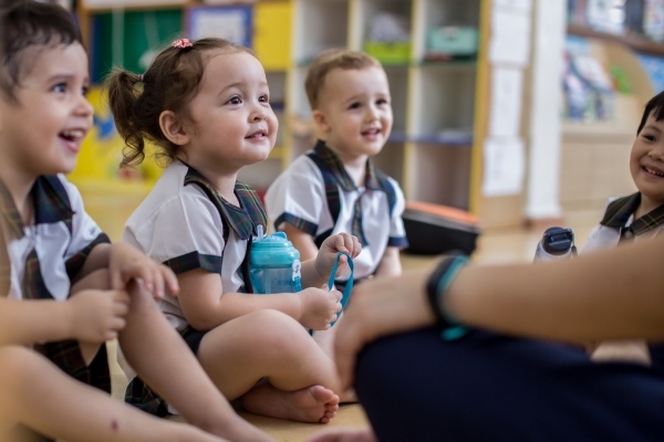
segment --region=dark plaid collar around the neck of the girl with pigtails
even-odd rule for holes
[[[224,219],[224,225],[228,224],[242,241],[249,240],[255,233],[257,225],[266,228],[268,215],[253,189],[243,182],[236,181],[235,193],[240,201],[240,207],[226,201],[215,187],[197,170],[189,167],[185,176],[185,186],[196,183],[208,196]]]

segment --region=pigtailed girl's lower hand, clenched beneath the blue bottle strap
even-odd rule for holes
[[[309,287],[298,292],[300,297],[300,324],[314,330],[330,328],[330,323],[336,320],[341,312],[341,297],[339,291],[330,292],[328,287]]]

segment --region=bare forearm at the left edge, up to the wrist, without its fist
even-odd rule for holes
[[[0,298],[0,345],[72,338],[66,303]]]

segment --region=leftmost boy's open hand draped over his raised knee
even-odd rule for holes
[[[115,243],[111,246],[108,263],[111,287],[124,290],[132,280],[141,280],[143,287],[154,297],[164,297],[164,285],[172,295],[179,292],[177,277],[170,269],[147,257],[143,252],[127,243]]]

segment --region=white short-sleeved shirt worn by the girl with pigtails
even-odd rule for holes
[[[236,193],[242,201],[240,186],[236,185]],[[220,211],[230,220],[228,242]],[[176,274],[195,269],[218,273],[224,293],[237,293],[245,287],[241,264],[252,233],[247,218],[243,209],[225,201],[196,170],[175,161],[129,217],[123,241]],[[159,307],[178,332],[188,326],[176,297],[166,294]]]

